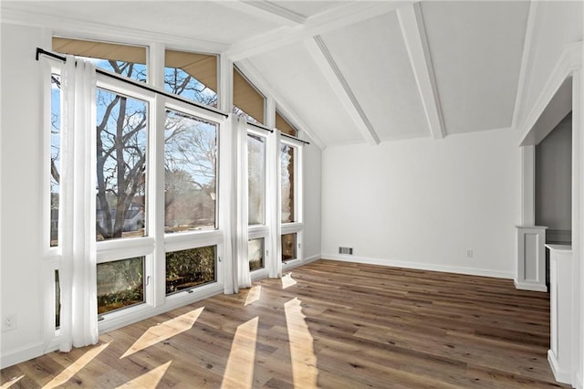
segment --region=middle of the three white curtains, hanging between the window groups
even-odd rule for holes
[[[245,121],[237,118],[235,125],[236,174],[237,174],[237,212],[235,228],[235,247],[237,275],[235,291],[239,288],[251,288],[252,279],[249,274],[249,258],[247,256],[248,240],[248,172],[247,172],[247,128]]]

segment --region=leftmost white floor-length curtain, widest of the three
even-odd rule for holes
[[[61,86],[59,349],[68,352],[98,342],[95,66],[68,56]]]

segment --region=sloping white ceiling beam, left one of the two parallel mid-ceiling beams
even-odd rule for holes
[[[365,112],[360,106],[359,100],[357,100],[353,91],[350,89],[349,83],[343,76],[334,58],[330,55],[325,42],[321,37],[317,36],[307,39],[305,45],[363,138],[370,144],[379,144],[380,137],[373,129],[367,115],[365,115]]]

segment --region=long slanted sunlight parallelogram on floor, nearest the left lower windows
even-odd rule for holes
[[[198,308],[178,316],[170,321],[164,321],[161,324],[152,326],[142,334],[139,340],[134,342],[130,348],[124,352],[120,359],[125,358],[134,352],[140,352],[153,344],[166,341],[179,333],[190,330],[194,322],[197,321],[204,307]]]

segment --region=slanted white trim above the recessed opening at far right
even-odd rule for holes
[[[556,62],[549,78],[540,92],[533,108],[530,110],[525,121],[521,123],[518,129],[518,144],[523,146],[527,144],[530,132],[537,123],[541,114],[546,110],[549,102],[554,98],[558,89],[564,81],[568,79],[571,73],[582,65],[582,42],[567,45],[561,56]]]

